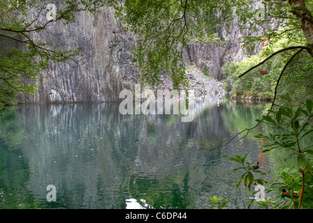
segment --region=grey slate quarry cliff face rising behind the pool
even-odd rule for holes
[[[40,73],[38,93],[20,95],[19,102],[111,102],[119,100],[122,89],[134,89],[140,79],[136,63],[132,63],[135,39],[114,12],[114,8],[106,7],[95,14],[81,12],[74,23],[54,22],[45,31],[35,33],[33,38],[65,50],[81,47],[83,55],[65,63],[49,64]],[[192,43],[184,52],[184,59],[187,66],[192,63],[199,70],[207,63],[210,76],[220,80],[223,64],[239,48],[234,41],[230,45]],[[170,83],[164,85],[170,88]],[[218,82],[211,86],[215,86],[211,89],[214,92],[221,90]]]

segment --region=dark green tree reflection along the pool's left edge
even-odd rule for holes
[[[29,166],[21,151],[23,120],[18,107],[0,110],[0,208],[38,208],[25,190]]]

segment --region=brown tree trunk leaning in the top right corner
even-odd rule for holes
[[[310,47],[308,52],[313,57],[313,17],[307,6],[305,6],[304,0],[289,0],[288,2],[291,6],[290,12],[296,15],[308,47]]]

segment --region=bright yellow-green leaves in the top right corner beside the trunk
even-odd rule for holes
[[[239,18],[240,29],[249,29],[248,36],[242,38],[243,49],[248,54],[253,54],[260,43],[268,42],[274,45],[282,38],[287,38],[289,43],[284,47],[296,45],[307,45],[311,43],[304,34],[304,27],[299,24],[298,13],[300,7],[304,8],[307,17],[312,17],[313,3],[310,0],[294,1],[260,1],[254,5],[252,1],[236,1],[236,16]],[[294,3],[301,5],[294,8]],[[310,19],[308,19],[310,20]],[[260,27],[262,31],[260,32]]]

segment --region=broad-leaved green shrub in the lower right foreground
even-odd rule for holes
[[[282,99],[286,100],[289,105],[291,105],[291,98],[289,94],[282,95]],[[301,139],[304,139],[310,133],[313,132],[312,129],[312,118],[313,118],[313,102],[312,100],[306,100],[303,107],[298,107],[297,109],[291,109],[290,107],[280,107],[278,111],[273,111],[272,109],[268,110],[267,115],[262,116],[262,121],[257,120],[258,123],[266,123],[272,127],[274,134],[268,133],[257,134],[255,137],[266,140],[266,145],[264,146],[263,153],[271,151],[273,149],[285,149],[296,152],[297,166],[300,174],[294,174],[294,176],[289,176],[287,170],[280,170],[280,181],[278,183],[273,183],[272,186],[278,185],[279,189],[287,188],[289,194],[291,194],[291,203],[294,208],[296,208],[296,201],[294,201],[294,188],[300,187],[300,190],[296,193],[298,196],[298,209],[301,208],[303,203],[303,194],[305,193],[305,179],[312,179],[312,167],[310,159],[312,158],[313,150],[312,146],[306,146],[302,148],[300,146]],[[248,154],[247,154],[248,155]],[[227,157],[228,160],[238,162],[241,164],[241,167],[234,169],[234,171],[243,170],[242,174],[236,183],[236,187],[239,187],[239,184],[243,182],[243,185],[250,190],[250,185],[259,184],[263,185],[267,183],[263,179],[256,179],[252,175],[252,171],[255,171],[253,166],[249,162],[246,162],[247,155],[243,157],[236,155],[236,157]],[[256,162],[256,161],[255,161]],[[255,171],[256,173],[266,175],[261,171]],[[300,185],[298,185],[300,183]],[[310,187],[307,187],[307,190],[310,190]],[[276,201],[278,197],[273,200]],[[274,208],[273,203],[266,200],[272,208]],[[284,202],[285,203],[285,202]],[[281,206],[280,203],[278,206]]]

